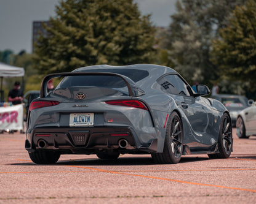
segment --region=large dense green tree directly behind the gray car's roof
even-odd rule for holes
[[[41,74],[94,64],[151,62],[155,50],[150,15],[133,0],[62,0],[36,50]]]

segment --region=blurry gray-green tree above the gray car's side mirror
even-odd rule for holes
[[[225,28],[235,5],[244,0],[181,0],[169,26],[169,58],[185,78],[212,85],[219,77],[210,61],[212,38]]]

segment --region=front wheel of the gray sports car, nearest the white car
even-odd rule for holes
[[[226,159],[230,157],[233,148],[232,123],[230,116],[224,113],[218,132],[218,151],[216,154],[208,154],[211,159]]]

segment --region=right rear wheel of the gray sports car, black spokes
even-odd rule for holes
[[[162,153],[152,153],[152,159],[158,164],[177,164],[182,158],[183,151],[183,127],[182,120],[177,112],[170,115],[166,138],[164,141],[164,150]]]

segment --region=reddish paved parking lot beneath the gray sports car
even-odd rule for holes
[[[196,154],[157,165],[150,155],[62,155],[36,165],[25,134],[0,134],[0,203],[256,203],[256,137],[233,129],[233,138],[229,159]]]

